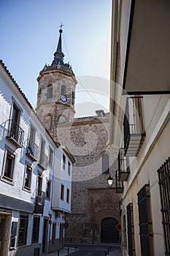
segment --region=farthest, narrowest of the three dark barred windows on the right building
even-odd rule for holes
[[[128,224],[128,255],[135,255],[134,246],[134,214],[133,214],[133,204],[129,203],[127,206],[127,224]]]

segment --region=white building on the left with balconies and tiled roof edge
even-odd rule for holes
[[[56,146],[2,61],[0,109],[0,255],[53,251],[63,246],[72,156]],[[61,170],[63,154],[69,175]],[[68,190],[61,199],[61,183],[69,199]]]

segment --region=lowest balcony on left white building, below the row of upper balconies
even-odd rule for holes
[[[45,192],[41,189],[36,189],[36,198],[34,206],[34,214],[43,214],[45,206]]]

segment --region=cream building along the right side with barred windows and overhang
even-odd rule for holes
[[[146,4],[144,10],[142,4]],[[154,1],[112,1],[110,143],[121,152],[117,156],[116,191],[121,193],[122,255],[160,256],[170,253],[170,87],[169,83],[163,85],[166,79],[169,80],[169,75],[161,79],[164,67],[160,64],[166,63],[161,59],[166,59],[163,51],[168,48],[162,48],[165,39],[159,31],[161,28],[166,33],[166,24],[157,30],[155,24],[158,20],[150,23],[155,10],[165,18],[164,11],[167,12],[169,7],[166,1],[159,1],[158,5]],[[150,14],[150,21],[144,13],[138,20],[137,13],[143,11]],[[150,39],[144,37],[148,29]],[[152,43],[154,31],[161,39],[161,44],[155,41],[159,52]],[[140,40],[146,45],[141,45],[143,41]],[[152,61],[157,58],[158,65],[150,62],[150,56]],[[145,63],[152,65],[147,69],[147,75],[142,69]],[[158,67],[159,72],[156,72]],[[131,86],[134,87],[130,89]]]

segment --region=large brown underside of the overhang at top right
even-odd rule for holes
[[[120,34],[127,39],[123,89],[128,94],[169,94],[169,12],[167,0],[122,4]]]

